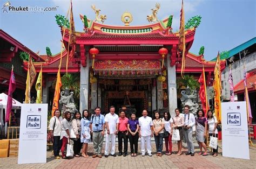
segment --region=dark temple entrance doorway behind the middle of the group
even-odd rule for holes
[[[149,79],[99,79],[98,87],[101,92],[101,103],[105,113],[111,105],[116,108],[116,114],[126,108],[129,118],[132,112],[136,117],[142,116],[144,109],[151,111],[151,95],[154,78]]]

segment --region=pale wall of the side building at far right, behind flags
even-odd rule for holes
[[[253,52],[247,57],[235,61],[233,64],[231,64],[231,71],[233,75],[233,83],[234,86],[237,85],[239,81],[244,79],[244,62],[245,62],[245,68],[246,72],[256,69],[256,52]],[[228,83],[228,75],[230,73],[230,67],[226,66],[224,71],[221,73],[221,85],[223,87],[222,89],[222,96],[224,100],[230,100],[230,83]]]

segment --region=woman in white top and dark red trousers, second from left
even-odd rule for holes
[[[62,132],[60,132],[60,139],[62,139],[62,148],[60,151],[62,151],[62,158],[66,159],[64,150],[66,144],[68,144],[68,139],[70,138],[70,129],[71,129],[71,114],[69,111],[65,112],[65,118],[62,121]]]

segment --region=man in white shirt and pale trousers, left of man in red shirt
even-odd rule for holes
[[[111,105],[110,112],[105,116],[106,123],[106,146],[105,146],[105,157],[109,157],[109,146],[111,140],[111,156],[116,157],[114,152],[114,146],[116,144],[116,135],[118,131],[119,117],[114,113],[114,106]]]

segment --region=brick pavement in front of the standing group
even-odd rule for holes
[[[103,147],[104,150],[104,147]],[[130,146],[128,151],[130,151]],[[165,151],[165,146],[164,146]],[[177,156],[177,144],[173,143],[173,154],[171,156],[157,157],[156,146],[152,142],[153,157],[140,156],[131,157],[130,154],[126,157],[112,157],[105,158],[73,158],[73,159],[54,159],[51,151],[47,152],[46,164],[17,164],[17,158],[1,158],[0,168],[255,168],[256,166],[256,147],[250,146],[251,160],[235,159],[222,157],[221,153],[218,157],[212,156],[198,156],[198,151],[194,157],[185,156],[186,150],[183,149],[183,155]],[[221,152],[221,148],[219,149]],[[89,145],[89,155],[92,156],[92,144]],[[103,152],[103,151],[102,151]],[[116,145],[116,152],[117,145]],[[140,145],[139,145],[140,152]]]

